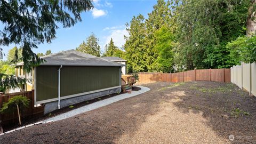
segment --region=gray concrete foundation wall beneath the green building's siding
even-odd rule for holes
[[[102,96],[105,96],[108,94],[112,94],[112,93],[117,93],[117,92],[119,92],[119,88],[102,91],[102,92],[97,92],[97,93],[81,95],[79,97],[74,97],[74,98],[70,98],[70,99],[63,99],[63,100],[60,100],[60,107],[61,108],[67,107],[70,105],[74,105],[75,103],[99,98],[99,97],[102,97]],[[51,111],[56,110],[56,109],[58,109],[58,101],[45,103],[44,114],[50,113]]]

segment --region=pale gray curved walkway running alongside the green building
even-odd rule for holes
[[[123,100],[123,99],[126,99],[126,98],[131,98],[131,97],[134,97],[135,95],[138,95],[138,94],[141,94],[141,93],[145,93],[145,92],[150,90],[148,87],[145,87],[145,86],[138,86],[138,87],[140,87],[141,90],[139,90],[139,91],[132,91],[132,93],[119,94],[119,95],[117,95],[115,97],[111,97],[111,98],[108,98],[108,99],[97,101],[97,102],[91,103],[90,105],[86,105],[86,106],[83,106],[83,107],[80,107],[80,108],[68,111],[67,113],[63,113],[63,114],[60,114],[58,116],[51,117],[49,119],[46,119],[43,122],[49,122],[49,121],[53,121],[54,122],[54,121],[59,121],[61,119],[73,117],[75,115],[78,115],[78,114],[81,114],[81,113],[85,113],[86,111],[97,109],[97,108],[109,105],[111,103],[117,102],[119,100]]]

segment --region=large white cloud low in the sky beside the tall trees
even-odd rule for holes
[[[113,38],[113,41],[116,46],[122,47],[125,43],[124,35],[128,36],[128,32],[126,31],[125,28],[123,29],[114,29],[110,30],[110,35],[104,37],[105,38],[105,44],[108,44],[110,42],[110,39]]]

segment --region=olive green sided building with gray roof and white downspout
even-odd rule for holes
[[[121,91],[121,68],[125,65],[76,50],[42,57],[34,68],[35,105],[45,113]]]

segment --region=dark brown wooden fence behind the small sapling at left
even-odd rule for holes
[[[30,99],[28,107],[20,106],[20,115],[22,119],[32,118],[35,116],[40,116],[44,114],[44,105],[39,107],[34,107],[34,90],[25,91],[25,92],[16,92],[16,93],[0,93],[0,108],[2,108],[3,103],[7,102],[10,98],[14,96],[22,95],[23,97],[27,97]],[[2,126],[9,124],[17,124],[18,123],[18,114],[17,110],[10,111],[9,113],[1,114],[0,119],[2,121]],[[21,119],[21,121],[22,121]]]

